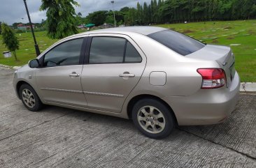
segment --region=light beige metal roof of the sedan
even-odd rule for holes
[[[125,27],[115,27],[115,28],[109,28],[109,29],[99,29],[95,31],[87,31],[85,33],[81,34],[94,34],[94,33],[140,33],[145,36],[148,36],[151,33],[156,33],[158,31],[164,31],[167,30],[162,27],[157,26],[125,26]]]

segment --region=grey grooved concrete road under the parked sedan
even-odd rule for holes
[[[29,112],[0,68],[0,167],[256,167],[256,95],[220,125],[186,126],[163,140],[131,121],[60,107]]]

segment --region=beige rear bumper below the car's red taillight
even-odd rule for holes
[[[165,97],[176,114],[178,125],[211,125],[222,123],[239,100],[240,79],[235,74],[228,88],[200,89],[191,96]]]

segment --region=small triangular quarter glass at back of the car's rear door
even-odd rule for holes
[[[127,42],[127,47],[126,47],[126,52],[125,52],[125,62],[126,63],[141,62],[141,55],[138,54],[137,50],[129,42]]]

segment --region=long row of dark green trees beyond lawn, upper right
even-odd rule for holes
[[[105,21],[113,22],[113,13],[109,11],[106,15]],[[136,8],[115,11],[117,22],[125,21],[127,25],[255,18],[256,0],[151,0],[137,2]]]

